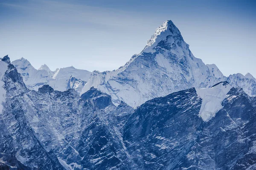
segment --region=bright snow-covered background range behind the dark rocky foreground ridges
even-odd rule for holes
[[[124,101],[136,107],[155,97],[192,87],[209,88],[221,81],[243,88],[250,96],[256,95],[256,79],[250,73],[225,77],[215,64],[204,64],[193,56],[189,45],[170,20],[156,29],[140,54],[132,56],[124,66],[114,71],[91,73],[72,66],[51,71],[47,65],[36,70],[23,58],[12,64],[31,90],[48,84],[58,91],[74,88],[81,95],[94,87],[111,95],[116,105]],[[70,80],[70,76],[77,80]],[[70,81],[76,85],[70,86]]]

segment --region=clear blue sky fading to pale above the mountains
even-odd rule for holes
[[[0,57],[113,70],[172,20],[195,57],[256,77],[255,0],[0,0]]]

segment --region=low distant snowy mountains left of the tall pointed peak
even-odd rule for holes
[[[70,76],[80,79],[73,86],[75,90],[80,93],[81,87],[90,77],[91,72],[87,70],[76,69],[73,66],[67,68],[56,69],[51,71],[47,65],[42,65],[40,68],[35,69],[27,59],[21,58],[12,62],[17,68],[17,71],[23,77],[26,86],[37,91],[43,85],[50,85],[58,91],[66,91],[70,88]],[[78,85],[79,84],[79,85]],[[78,87],[79,88],[76,88]]]

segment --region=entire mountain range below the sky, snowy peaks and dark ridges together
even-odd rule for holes
[[[0,169],[256,169],[256,79],[195,58],[172,21],[114,71],[0,58]]]

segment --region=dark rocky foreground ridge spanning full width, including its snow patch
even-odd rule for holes
[[[2,169],[256,168],[256,98],[228,82],[134,109],[93,87],[31,91],[9,57],[0,66]]]

